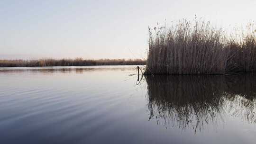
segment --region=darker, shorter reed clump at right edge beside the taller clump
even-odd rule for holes
[[[227,72],[256,71],[256,27],[248,24],[246,32],[230,36],[226,46],[229,54]]]

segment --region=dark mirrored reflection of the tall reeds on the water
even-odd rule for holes
[[[146,76],[149,120],[166,127],[218,126],[227,116],[256,123],[256,76]]]

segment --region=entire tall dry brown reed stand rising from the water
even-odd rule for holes
[[[221,74],[256,71],[256,27],[229,35],[210,22],[186,19],[150,28],[145,74]]]

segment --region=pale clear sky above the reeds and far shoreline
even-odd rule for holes
[[[0,0],[0,58],[145,58],[147,27],[256,20],[256,0]]]

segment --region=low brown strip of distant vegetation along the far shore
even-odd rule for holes
[[[0,67],[37,66],[90,66],[90,65],[145,65],[142,59],[38,59],[38,60],[0,60]]]

